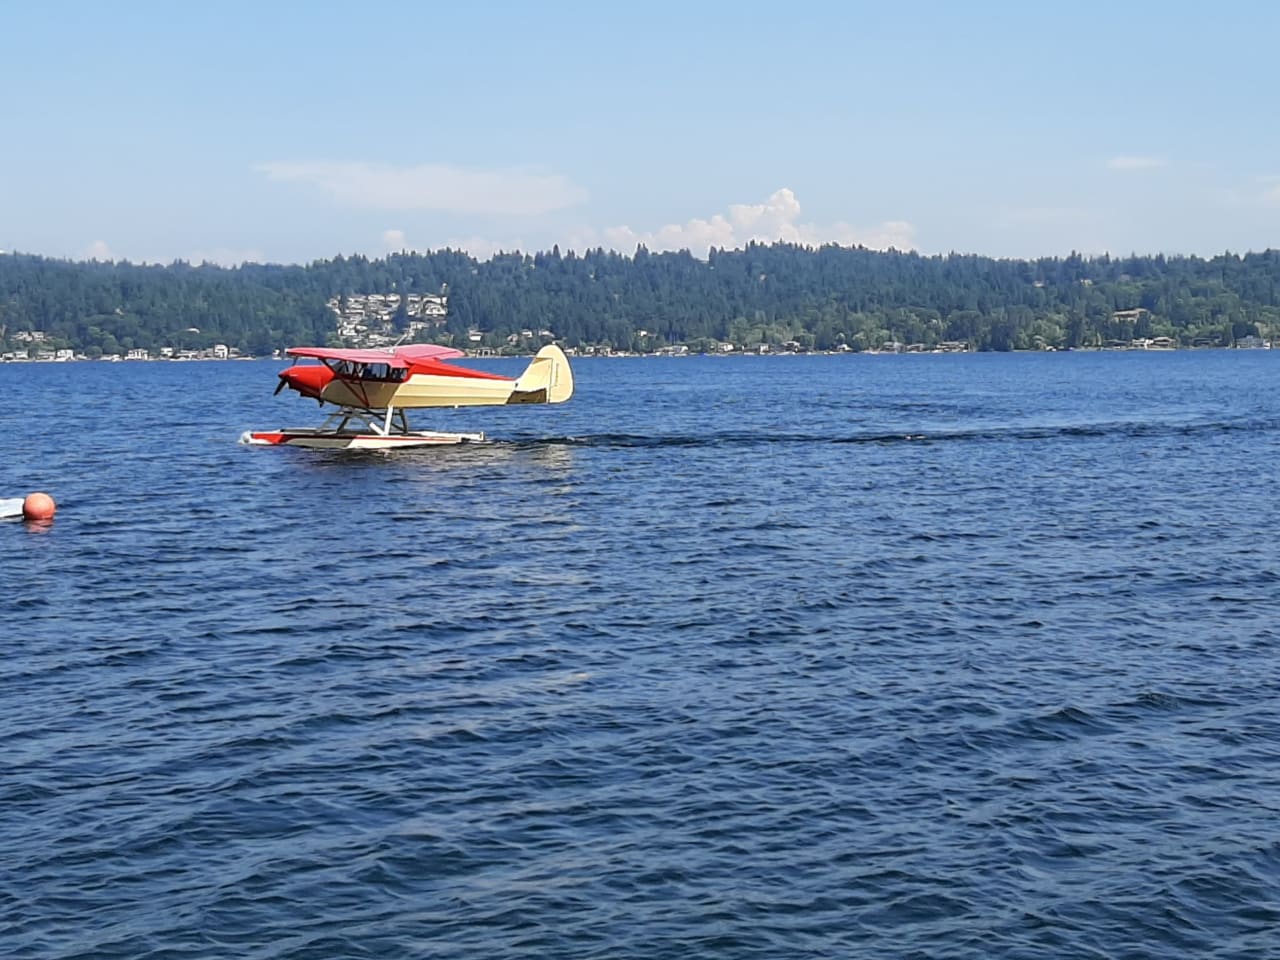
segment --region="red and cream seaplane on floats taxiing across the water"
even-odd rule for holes
[[[388,349],[291,347],[285,356],[298,362],[279,372],[275,392],[288,387],[334,410],[317,428],[246,431],[242,443],[362,451],[475,443],[484,440],[483,433],[413,430],[407,411],[563,403],[573,396],[568,360],[554,344],[538,351],[516,378],[457,366],[449,361],[466,353],[429,343]]]

